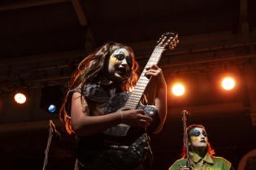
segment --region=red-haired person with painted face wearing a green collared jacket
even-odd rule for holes
[[[223,157],[214,156],[215,150],[210,147],[206,128],[203,125],[189,125],[187,128],[189,164],[193,170],[233,170],[232,164]],[[169,170],[186,169],[187,153],[186,147],[183,147],[182,158],[176,160]]]

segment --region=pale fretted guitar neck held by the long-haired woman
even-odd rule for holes
[[[151,66],[151,65],[157,65],[162,53],[164,51],[163,47],[156,46],[154,48],[153,53],[150,56],[149,61],[146,63],[145,66]],[[138,79],[136,86],[134,87],[134,90],[132,91],[131,95],[128,98],[127,103],[125,104],[124,108],[130,108],[130,109],[136,109],[137,105],[139,104],[141,97],[145,91],[145,87],[150,82],[150,79],[147,79],[145,77],[145,68],[141,73],[140,78]]]

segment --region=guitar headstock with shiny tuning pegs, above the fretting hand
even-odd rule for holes
[[[178,34],[176,32],[165,32],[159,38],[157,42],[158,47],[162,47],[164,49],[169,47],[169,49],[174,49],[179,43]]]

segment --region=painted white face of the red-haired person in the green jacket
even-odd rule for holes
[[[205,129],[193,128],[189,131],[189,136],[193,147],[207,147],[208,138]]]

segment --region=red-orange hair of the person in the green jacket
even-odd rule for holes
[[[202,128],[202,129],[206,130],[205,126],[203,126],[203,125],[196,125],[196,124],[189,125],[189,127],[187,127],[187,130],[186,130],[187,134],[188,134],[188,142],[191,142],[189,132],[191,130],[193,130],[194,128]],[[189,145],[189,151],[191,151],[191,145]],[[208,142],[208,144],[207,144],[207,152],[208,152],[209,155],[215,155],[215,150],[210,146],[210,142]],[[181,156],[182,156],[182,158],[187,157],[185,143],[183,144],[183,151],[182,151]]]

